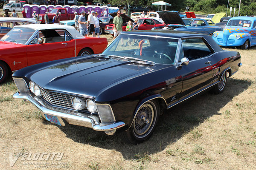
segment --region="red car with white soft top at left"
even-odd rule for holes
[[[0,39],[0,83],[20,68],[41,62],[101,53],[106,38],[84,37],[72,26],[15,26]]]

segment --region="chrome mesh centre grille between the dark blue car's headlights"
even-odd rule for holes
[[[45,91],[41,88],[43,99],[45,99],[47,102],[51,103],[52,105],[66,107],[66,108],[72,108],[72,97],[73,95],[70,94],[62,94],[54,91]],[[86,100],[86,99],[84,99]]]

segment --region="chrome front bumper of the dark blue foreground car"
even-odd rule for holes
[[[93,128],[93,130],[97,130],[97,131],[105,131],[105,133],[107,134],[108,133],[111,134],[110,131],[113,131],[125,125],[125,123],[122,121],[114,122],[111,124],[102,124],[99,122],[99,117],[90,115],[90,114],[72,115],[72,114],[62,113],[59,111],[53,111],[51,109],[46,108],[45,105],[40,101],[41,99],[39,99],[36,96],[32,97],[30,94],[20,94],[19,92],[17,92],[13,95],[13,98],[28,100],[36,108],[38,108],[41,111],[41,114],[44,118],[45,118],[44,113],[52,116],[57,116],[58,119],[61,119],[60,120],[61,125],[64,124],[62,119],[65,119],[70,124],[90,127],[90,128]]]

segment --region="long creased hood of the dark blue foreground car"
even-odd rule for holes
[[[127,60],[83,57],[41,69],[33,73],[30,79],[44,89],[96,97],[99,91],[152,71],[152,67],[132,64]]]

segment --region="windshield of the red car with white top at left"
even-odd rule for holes
[[[12,28],[1,40],[26,44],[34,32],[35,30],[31,28]]]

